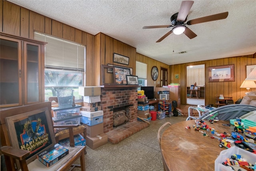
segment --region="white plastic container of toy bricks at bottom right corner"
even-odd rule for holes
[[[245,159],[248,163],[254,164],[256,162],[256,154],[234,146],[220,152],[220,155],[215,160],[214,170],[215,171],[232,171],[232,169],[230,169],[229,167],[222,165],[222,162],[226,161],[226,159],[230,158],[231,155],[233,154],[241,155],[242,158]]]

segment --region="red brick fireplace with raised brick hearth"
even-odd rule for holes
[[[132,85],[110,85],[101,88],[100,105],[104,112],[103,123],[104,133],[108,135],[108,141],[117,144],[130,135],[149,126],[148,123],[137,121],[137,97],[138,86]],[[118,127],[113,127],[113,113],[118,109],[124,109],[128,121]]]

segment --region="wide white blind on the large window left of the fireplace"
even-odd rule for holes
[[[84,72],[85,46],[41,32],[34,32],[34,39],[47,42],[45,68]]]

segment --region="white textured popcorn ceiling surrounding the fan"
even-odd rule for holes
[[[170,34],[182,0],[8,0],[90,34],[102,32],[136,48],[136,52],[168,65],[256,52],[256,0],[194,0],[187,20],[228,11],[223,20],[188,26],[197,34]],[[174,52],[173,52],[174,51]],[[179,54],[178,52],[187,53]]]

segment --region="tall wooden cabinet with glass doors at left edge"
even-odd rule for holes
[[[0,33],[0,107],[44,101],[45,44]]]

